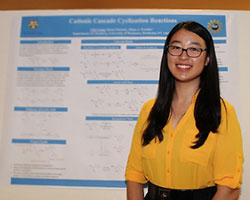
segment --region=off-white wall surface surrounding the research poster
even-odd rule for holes
[[[34,11],[33,11],[34,12]],[[36,11],[35,14],[37,14]],[[40,11],[43,14],[52,11]],[[54,12],[54,11],[53,11]],[[59,11],[58,11],[59,12]],[[70,14],[70,11],[66,11]],[[64,14],[67,14],[64,12]],[[214,12],[214,11],[213,11]],[[221,12],[221,11],[218,11]],[[243,148],[245,155],[243,186],[240,200],[249,200],[250,197],[250,11],[223,11],[236,13],[238,23],[239,41],[239,68],[240,71],[240,105],[238,106],[239,120],[243,134]],[[4,119],[4,96],[6,92],[8,55],[9,55],[9,30],[11,16],[15,14],[32,14],[32,11],[4,11],[0,12],[0,131]],[[34,14],[34,13],[33,13]],[[233,94],[232,94],[233,95]],[[3,132],[0,132],[0,139]],[[129,145],[129,144],[128,144]],[[1,163],[0,163],[1,167]],[[66,187],[37,187],[37,186],[5,186],[0,187],[0,200],[125,200],[125,189],[105,189],[105,188],[66,188]]]

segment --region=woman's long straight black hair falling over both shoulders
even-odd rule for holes
[[[200,92],[197,96],[194,109],[196,127],[199,132],[196,135],[197,141],[191,148],[196,149],[202,146],[210,131],[216,133],[220,125],[221,98],[219,74],[212,36],[206,28],[197,22],[181,22],[170,31],[165,42],[157,98],[148,117],[148,126],[142,136],[142,144],[144,146],[149,144],[154,138],[158,138],[159,141],[163,140],[162,129],[168,123],[175,90],[175,78],[168,68],[167,46],[172,36],[181,29],[199,35],[206,43],[207,56],[209,57],[209,63],[204,67],[200,76]]]

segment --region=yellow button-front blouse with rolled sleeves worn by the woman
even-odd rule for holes
[[[152,140],[142,146],[142,133],[154,105],[152,99],[142,107],[135,127],[127,162],[126,180],[152,182],[172,189],[199,189],[215,184],[239,188],[242,183],[242,138],[234,107],[224,100],[218,133],[210,133],[198,149],[190,146],[196,141],[194,106],[173,128],[171,119],[163,129],[163,141]]]

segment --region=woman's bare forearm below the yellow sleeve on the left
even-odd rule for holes
[[[127,200],[143,200],[143,184],[127,181]]]

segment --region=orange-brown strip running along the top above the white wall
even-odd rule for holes
[[[249,0],[9,0],[2,1],[0,10],[30,9],[217,9],[217,10],[250,10]]]

